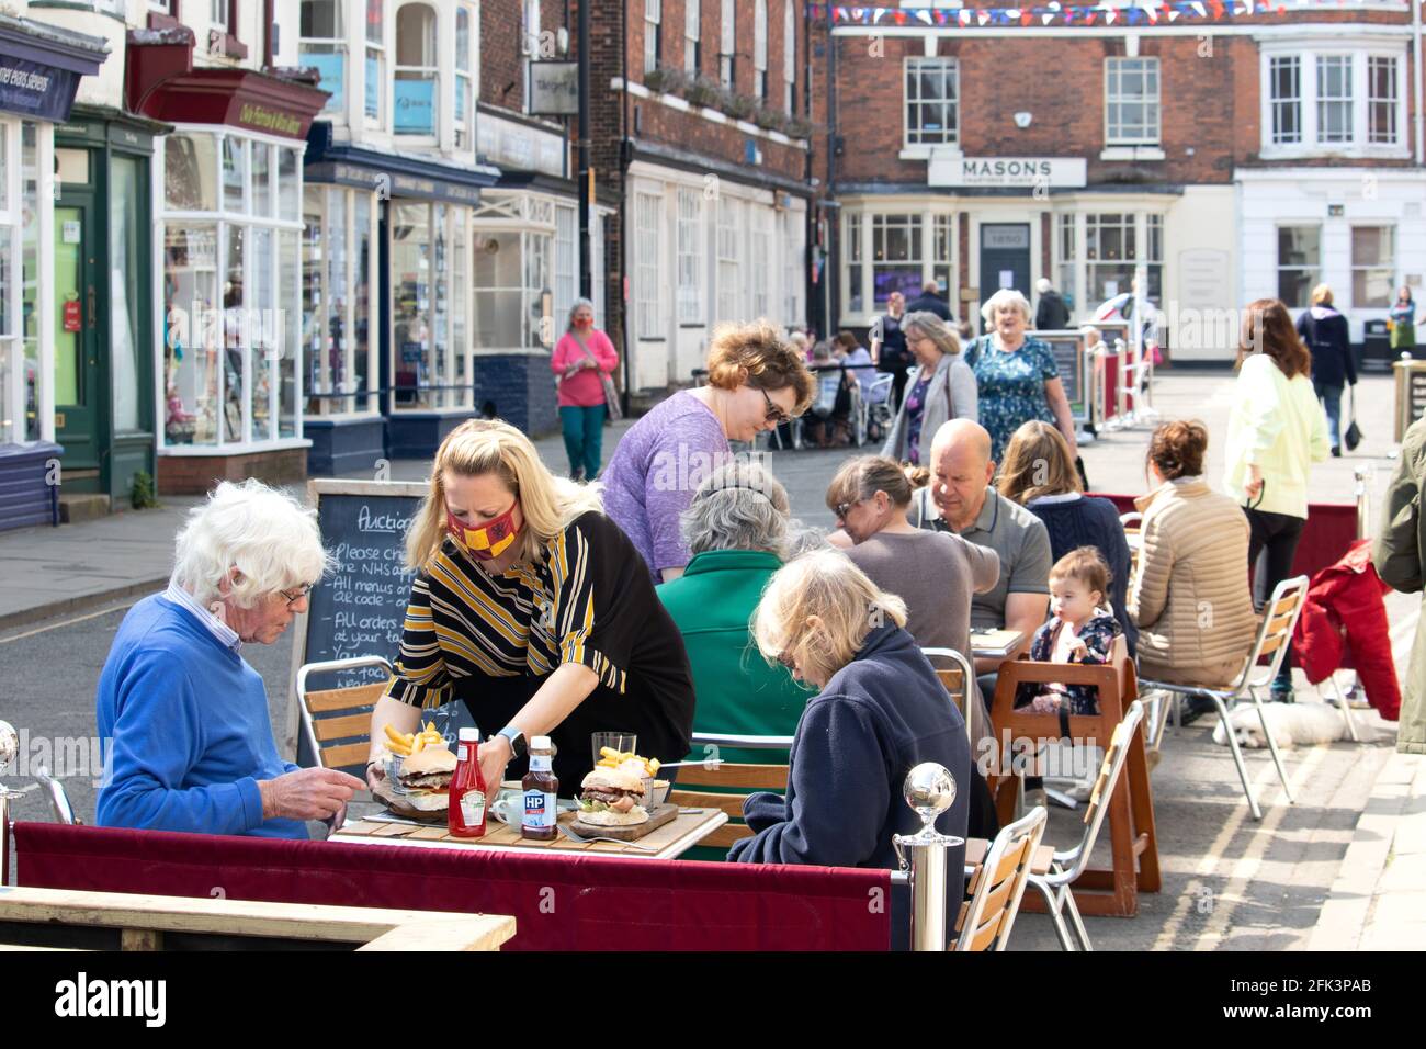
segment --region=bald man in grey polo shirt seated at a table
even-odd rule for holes
[[[1014,659],[1030,647],[1050,611],[1050,532],[1044,522],[991,488],[995,464],[990,432],[970,420],[951,420],[931,440],[931,484],[911,501],[911,522],[954,532],[1000,555],[1000,581],[971,599],[971,629],[1020,631]],[[1000,659],[977,659],[988,698]]]

